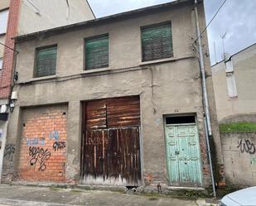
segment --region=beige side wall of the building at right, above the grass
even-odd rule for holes
[[[218,120],[256,113],[256,45],[232,57],[238,97],[229,98],[225,63],[212,67]]]

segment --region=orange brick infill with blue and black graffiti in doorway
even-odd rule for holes
[[[22,116],[19,179],[65,181],[67,108],[26,108]]]

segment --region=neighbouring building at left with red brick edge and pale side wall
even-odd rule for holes
[[[0,1],[0,174],[10,111],[13,68],[18,51],[15,36],[94,19],[86,0]]]

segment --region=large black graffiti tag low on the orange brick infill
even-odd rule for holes
[[[49,160],[51,157],[51,152],[48,149],[30,146],[29,156],[31,156],[30,164],[35,166],[34,169],[38,166],[39,171],[44,171],[46,170],[46,160]]]

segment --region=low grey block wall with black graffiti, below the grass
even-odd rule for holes
[[[256,184],[256,133],[221,133],[228,184]]]

